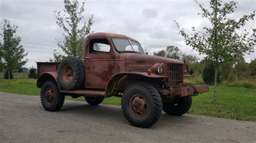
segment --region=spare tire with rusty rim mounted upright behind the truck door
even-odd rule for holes
[[[84,82],[84,66],[78,58],[70,56],[60,62],[58,67],[58,82],[64,90],[75,90]]]

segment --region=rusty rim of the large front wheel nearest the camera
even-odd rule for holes
[[[147,109],[147,101],[142,95],[136,94],[132,96],[130,99],[130,110],[134,116],[145,116]]]

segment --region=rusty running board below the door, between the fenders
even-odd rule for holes
[[[105,97],[105,91],[94,91],[94,90],[60,90],[63,94],[76,94],[83,95],[85,97]]]

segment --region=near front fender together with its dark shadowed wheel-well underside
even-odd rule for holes
[[[147,72],[124,72],[113,75],[106,84],[105,96],[110,97],[113,94],[118,94],[119,90],[124,90],[128,85],[134,82],[146,82],[149,84],[159,84],[159,81],[168,76],[157,75]],[[165,83],[164,83],[165,84]],[[153,85],[154,86],[154,85]]]

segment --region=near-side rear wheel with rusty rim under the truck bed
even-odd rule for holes
[[[44,82],[40,95],[43,108],[47,111],[58,111],[65,101],[65,96],[60,94],[58,84],[54,80]]]

